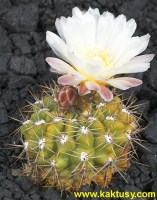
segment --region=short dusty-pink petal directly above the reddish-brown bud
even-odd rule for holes
[[[80,81],[75,80],[74,76],[71,75],[63,75],[58,78],[58,83],[61,85],[78,85]]]

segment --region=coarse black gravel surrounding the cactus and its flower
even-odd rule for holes
[[[45,32],[56,33],[55,19],[70,16],[74,6],[82,10],[89,6],[98,7],[101,13],[108,10],[116,16],[122,13],[127,19],[135,18],[138,25],[135,35],[151,35],[145,53],[157,55],[156,0],[0,0],[0,200],[78,200],[73,194],[61,197],[52,188],[43,191],[22,176],[21,166],[25,160],[16,161],[22,149],[10,146],[21,144],[19,133],[11,135],[19,122],[9,117],[21,120],[19,108],[27,105],[26,100],[34,101],[29,90],[39,94],[38,85],[56,80],[45,62],[46,57],[55,56],[45,41]],[[136,98],[135,105],[142,104],[137,108],[143,113],[139,122],[142,127],[149,125],[140,133],[141,144],[136,144],[139,159],[132,159],[125,175],[127,183],[117,176],[103,191],[157,192],[156,63],[155,57],[147,72],[131,74],[141,78],[143,84],[124,94],[124,98]],[[84,186],[80,191],[99,192],[100,189],[92,185]]]

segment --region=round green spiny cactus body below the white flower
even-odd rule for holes
[[[88,102],[88,95],[66,112],[52,88],[31,104],[31,116],[20,128],[28,160],[24,172],[45,187],[75,191],[92,182],[107,187],[130,166],[137,118],[118,96],[105,102],[94,93]]]

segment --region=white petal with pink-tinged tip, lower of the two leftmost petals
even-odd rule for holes
[[[70,65],[58,58],[46,58],[46,62],[55,70],[60,71],[63,74],[67,74],[70,71],[75,71]]]

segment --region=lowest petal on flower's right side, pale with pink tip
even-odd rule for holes
[[[121,90],[126,90],[131,87],[136,87],[142,84],[142,81],[136,78],[121,77],[114,78],[106,81],[106,83],[112,85],[113,87],[119,88]]]

